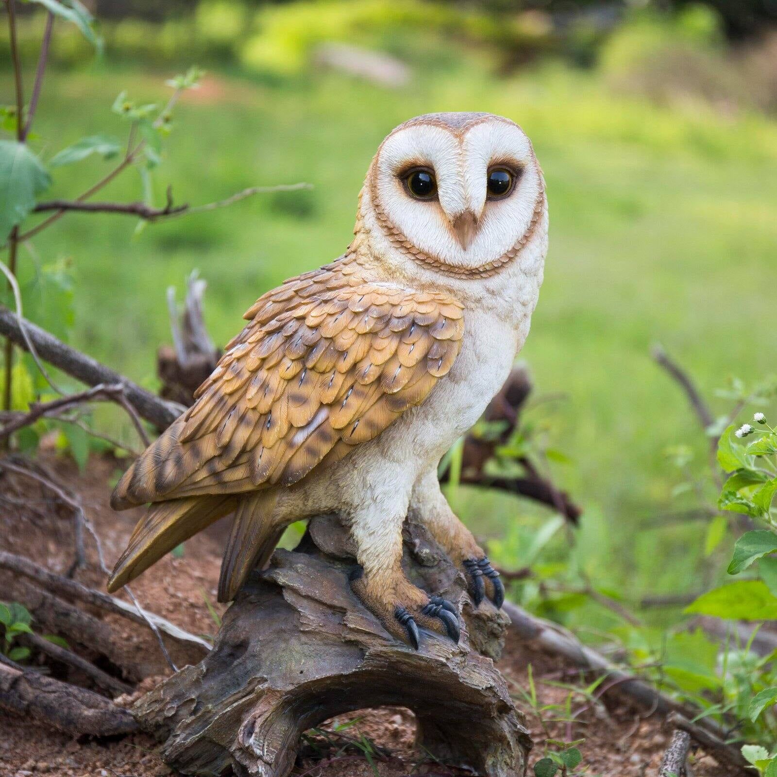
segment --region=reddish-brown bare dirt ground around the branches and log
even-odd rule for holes
[[[129,537],[138,512],[114,513],[108,506],[110,487],[106,484],[116,474],[117,463],[92,458],[88,472],[79,475],[68,462],[49,460],[48,465],[82,497],[89,520],[96,528],[109,565],[117,559]],[[21,503],[22,498],[26,505]],[[61,512],[61,514],[59,514]],[[103,589],[105,575],[96,564],[96,549],[89,535],[85,538],[88,564],[75,577],[92,587]],[[21,483],[11,476],[0,476],[0,549],[35,560],[48,569],[63,573],[73,558],[73,531],[66,511],[58,511],[51,498],[29,482]],[[195,634],[212,635],[216,631],[214,618],[206,603],[216,599],[216,585],[221,563],[221,543],[218,535],[198,535],[186,543],[184,555],[167,556],[133,584],[141,605]],[[0,601],[13,601],[19,591],[19,580],[0,573]],[[221,605],[213,605],[221,611]],[[117,655],[127,657],[138,678],[145,677],[142,688],[150,688],[159,678],[169,674],[159,645],[148,630],[117,616],[101,616],[110,626],[111,639]],[[34,626],[34,624],[33,624]],[[88,652],[79,650],[86,657]],[[173,653],[181,661],[185,657]],[[124,662],[122,662],[124,664]],[[33,658],[33,664],[40,659]],[[538,694],[538,706],[545,707],[545,721],[524,703],[520,689],[528,688],[528,666]],[[65,667],[49,664],[51,674],[63,680],[89,687],[89,681]],[[657,775],[661,757],[668,744],[668,734],[656,716],[645,718],[627,704],[608,702],[587,706],[585,699],[573,696],[571,710],[577,713],[575,723],[554,723],[559,715],[549,705],[566,705],[569,691],[559,688],[559,681],[574,681],[575,674],[558,661],[527,650],[514,636],[507,638],[500,664],[503,675],[515,691],[517,706],[527,716],[531,736],[535,740],[531,763],[542,758],[542,748],[550,736],[566,741],[584,739],[580,750],[584,755],[579,774],[602,777],[649,777]],[[103,666],[103,668],[106,668]],[[68,674],[70,672],[70,674]],[[401,708],[364,710],[347,719],[330,721],[347,723],[342,735],[358,739],[362,734],[373,740],[389,755],[374,758],[375,770],[381,777],[434,774],[453,775],[444,765],[419,765],[423,753],[413,748],[415,724],[413,714]],[[550,722],[549,722],[550,721]],[[314,735],[311,735],[315,741]],[[338,736],[338,735],[335,735]],[[0,777],[152,777],[171,775],[169,768],[156,754],[151,737],[133,735],[113,740],[73,739],[41,727],[33,720],[19,720],[0,711]],[[339,749],[339,748],[338,748]],[[308,747],[305,752],[312,754]],[[329,750],[329,760],[303,758],[295,770],[305,777],[371,777],[373,767],[354,747],[347,748],[337,758]],[[386,760],[381,760],[385,758]],[[712,758],[701,751],[693,758],[696,777],[724,777],[726,770],[718,768]],[[531,772],[531,769],[530,769]]]

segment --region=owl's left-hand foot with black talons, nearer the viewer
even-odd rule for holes
[[[461,630],[457,610],[441,596],[428,597],[404,577],[389,597],[385,589],[371,586],[368,578],[360,573],[351,576],[350,584],[361,603],[382,622],[386,630],[414,650],[419,649],[424,630],[448,636],[458,643]]]

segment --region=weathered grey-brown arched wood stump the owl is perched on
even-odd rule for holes
[[[294,552],[279,550],[227,611],[214,649],[131,710],[190,775],[285,777],[306,729],[354,709],[406,706],[435,758],[486,777],[524,775],[531,739],[490,658],[506,619],[472,608],[458,571],[423,527],[409,524],[403,559],[414,583],[463,612],[456,646],[429,632],[397,642],[351,593],[355,563],[335,517],[311,521]],[[480,652],[478,652],[480,651]]]

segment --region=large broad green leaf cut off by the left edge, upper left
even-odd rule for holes
[[[0,239],[35,207],[35,197],[51,184],[46,168],[23,143],[0,141]]]

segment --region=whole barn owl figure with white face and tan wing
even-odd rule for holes
[[[108,589],[234,514],[218,598],[267,563],[284,528],[336,512],[354,594],[416,649],[458,641],[458,613],[402,573],[411,514],[459,566],[476,607],[498,573],[440,490],[437,465],[478,420],[528,334],[547,249],[542,171],[514,122],[432,113],[372,159],[354,241],[263,294],[197,401],[124,474],[112,505],[150,503]],[[424,636],[427,639],[429,635]]]

